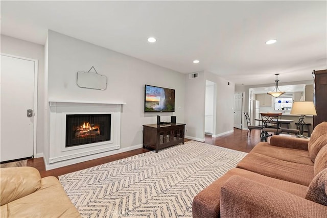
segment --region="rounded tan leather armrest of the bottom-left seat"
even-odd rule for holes
[[[1,205],[30,195],[41,187],[41,176],[33,167],[0,169]]]

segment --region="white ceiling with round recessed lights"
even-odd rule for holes
[[[283,83],[327,68],[326,3],[1,1],[1,33],[44,44],[51,29],[185,74],[207,70],[256,85],[279,73]]]

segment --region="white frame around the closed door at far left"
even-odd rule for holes
[[[11,58],[18,58],[27,61],[34,62],[34,122],[33,122],[33,158],[36,156],[36,139],[37,139],[37,94],[38,94],[38,60],[32,58],[21,57],[17,55],[10,55],[6,53],[0,53],[0,55],[11,57]]]

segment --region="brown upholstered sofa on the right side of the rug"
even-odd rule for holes
[[[327,217],[327,122],[272,136],[193,199],[198,217]]]

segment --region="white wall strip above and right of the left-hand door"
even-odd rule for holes
[[[1,53],[38,60],[38,102],[37,102],[37,138],[36,157],[41,156],[44,143],[44,46],[32,42],[1,35]]]

